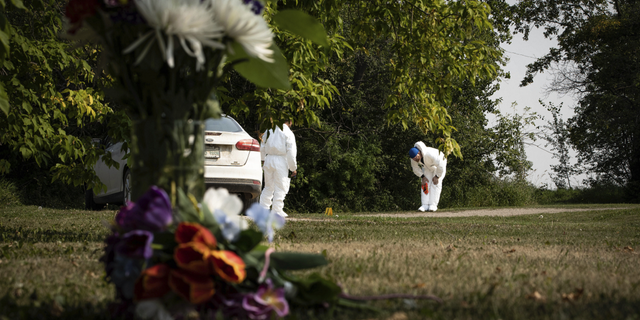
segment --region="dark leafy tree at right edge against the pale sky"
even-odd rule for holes
[[[552,90],[578,95],[568,120],[578,160],[597,181],[640,194],[640,3],[531,0],[514,6],[517,30],[557,37],[558,47],[528,66],[523,85],[557,67]]]

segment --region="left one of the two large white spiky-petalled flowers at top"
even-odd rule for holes
[[[196,70],[201,70],[205,58],[203,45],[214,49],[224,49],[224,45],[217,41],[223,37],[223,29],[213,18],[213,7],[210,1],[201,0],[136,0],[138,12],[155,30],[140,36],[129,45],[123,53],[135,50],[149,38],[155,38],[163,57],[169,67],[174,66],[173,49],[174,36],[178,38],[184,51],[196,58]],[[165,44],[166,36],[166,44]],[[147,54],[153,40],[149,41],[136,60],[142,61]]]

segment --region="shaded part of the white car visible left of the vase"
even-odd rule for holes
[[[122,142],[112,143],[107,139],[105,144],[105,152],[111,153],[111,159],[120,165],[116,169],[98,159],[93,169],[107,189],[97,190],[98,193],[94,193],[93,189],[85,191],[84,204],[87,210],[101,210],[107,203],[125,204],[127,200],[131,201],[131,173],[127,159],[123,159],[127,153],[121,150]]]

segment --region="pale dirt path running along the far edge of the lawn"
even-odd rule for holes
[[[519,216],[524,214],[552,214],[559,212],[580,212],[596,210],[617,210],[624,208],[501,208],[501,209],[480,209],[480,210],[458,210],[458,211],[436,211],[436,212],[399,212],[399,213],[376,213],[358,215],[358,217],[395,217],[395,218],[417,218],[417,217],[472,217],[472,216]],[[339,216],[339,214],[338,214]],[[287,221],[325,221],[324,219],[308,218],[287,218]]]

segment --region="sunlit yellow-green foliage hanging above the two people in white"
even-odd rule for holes
[[[223,109],[237,115],[256,117],[259,130],[278,124],[278,119],[294,118],[303,126],[319,125],[318,114],[334,108],[330,101],[337,94],[357,90],[358,79],[350,88],[341,88],[326,74],[325,68],[354,56],[380,59],[380,71],[388,81],[378,125],[417,125],[423,133],[437,132],[438,145],[445,152],[461,156],[451,138],[455,130],[445,106],[463,80],[492,78],[499,52],[476,35],[490,30],[489,8],[476,1],[451,3],[414,0],[339,3],[300,1],[296,4],[272,3],[269,10],[296,7],[308,11],[329,30],[329,50],[320,50],[276,29],[283,53],[291,63],[293,91],[266,91],[232,82],[226,87]],[[375,49],[374,49],[375,48]],[[359,73],[367,68],[360,65]],[[357,78],[357,77],[356,77]],[[228,106],[227,106],[228,104]],[[250,111],[254,109],[256,111]]]

